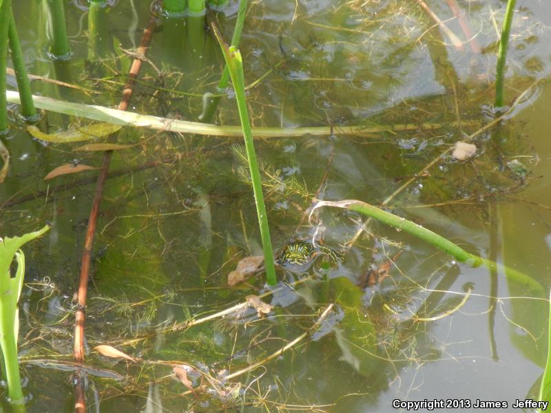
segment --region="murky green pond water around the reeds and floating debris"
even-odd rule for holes
[[[94,42],[86,2],[66,3],[72,55],[53,61],[43,2],[13,3],[30,74],[76,85],[34,80],[34,94],[118,104],[156,6],[110,2]],[[342,255],[279,267],[275,290],[262,271],[227,284],[242,258],[262,255],[242,139],[121,129],[117,142],[134,146],[113,155],[92,251],[87,411],[392,412],[401,410],[395,399],[506,401],[503,411],[518,411],[515,399],[537,397],[551,282],[551,4],[517,2],[508,112],[484,129],[500,116],[492,105],[506,2],[458,0],[458,19],[455,1],[427,1],[441,25],[421,3],[249,3],[240,51],[253,126],[334,131],[255,140],[275,250],[314,240]],[[238,4],[218,9],[209,19],[231,39]],[[130,112],[198,121],[223,69],[204,24],[157,17]],[[211,122],[239,125],[233,90],[223,94]],[[10,109],[1,235],[52,224],[24,248],[19,353],[27,410],[70,412],[74,291],[97,171],[44,177],[71,163],[98,168],[102,154],[75,151],[86,142],[41,142],[17,120],[18,107]],[[89,123],[48,112],[38,127],[53,133]],[[348,133],[349,125],[360,129]],[[459,140],[475,143],[475,157],[450,156]],[[455,262],[357,213],[323,207],[309,220],[315,199],[385,202],[541,288],[502,269]],[[185,328],[264,293],[273,306],[264,317],[248,308]],[[104,357],[94,351],[101,344],[139,360]],[[193,367],[195,395],[183,394],[171,363]],[[232,376],[253,363],[258,368]]]

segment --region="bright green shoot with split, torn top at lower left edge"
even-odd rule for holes
[[[0,239],[0,346],[3,353],[3,363],[6,369],[8,394],[12,403],[24,402],[21,379],[19,377],[19,363],[17,361],[17,335],[19,334],[19,312],[17,301],[23,288],[25,275],[25,255],[21,246],[34,240],[46,231],[46,225],[39,231],[34,231],[22,237]],[[15,257],[17,270],[15,276],[10,274],[10,266]]]

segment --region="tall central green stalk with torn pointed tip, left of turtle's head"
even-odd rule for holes
[[[220,42],[226,65],[229,68],[233,89],[236,92],[237,106],[239,109],[239,118],[245,138],[245,149],[247,149],[247,160],[249,160],[249,169],[251,171],[251,181],[253,182],[253,193],[256,203],[256,213],[258,215],[258,225],[260,226],[260,237],[262,238],[262,248],[264,249],[264,264],[266,266],[267,282],[271,286],[277,284],[275,278],[275,266],[273,265],[273,251],[271,248],[270,230],[268,226],[268,216],[264,205],[264,196],[262,195],[262,181],[260,180],[260,170],[254,151],[253,134],[251,132],[251,123],[249,121],[249,112],[247,111],[247,100],[245,99],[245,76],[243,74],[243,62],[241,54],[235,46],[228,47],[221,34],[212,26],[214,34]]]

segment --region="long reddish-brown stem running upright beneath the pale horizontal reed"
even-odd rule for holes
[[[155,28],[155,18],[152,17],[147,25],[147,28],[143,31],[143,37],[138,47],[138,56],[145,55],[147,47],[149,47],[149,41]],[[134,59],[132,67],[130,67],[128,81],[123,89],[123,98],[118,105],[118,110],[126,110],[132,97],[134,90],[134,81],[138,77],[142,59]],[[110,140],[113,140],[114,136],[110,136]],[[77,307],[76,317],[74,323],[74,359],[78,363],[84,361],[84,321],[85,321],[85,308],[86,308],[86,293],[88,289],[88,277],[90,274],[90,261],[92,257],[92,244],[94,244],[94,234],[96,233],[96,223],[99,215],[99,207],[103,198],[103,185],[107,179],[107,173],[111,163],[113,151],[105,151],[103,154],[103,162],[101,165],[101,171],[98,175],[96,182],[96,191],[94,195],[94,201],[92,203],[92,210],[90,211],[90,218],[88,219],[88,226],[86,230],[86,236],[84,240],[84,248],[82,253],[81,262],[81,274],[79,279],[79,290],[77,293]],[[76,383],[76,401],[75,411],[79,413],[85,413],[85,397],[84,397],[84,381],[85,377],[83,372],[79,369],[76,370],[75,383]]]

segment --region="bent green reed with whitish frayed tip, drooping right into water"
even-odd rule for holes
[[[373,205],[366,204],[365,202],[360,202],[357,200],[345,200],[340,202],[320,201],[318,202],[318,204],[315,205],[314,209],[320,207],[344,208],[349,209],[350,211],[359,212],[362,215],[366,215],[371,218],[375,218],[375,220],[377,221],[383,222],[384,224],[387,224],[389,226],[393,226],[395,229],[397,229],[397,231],[404,231],[406,233],[414,235],[420,240],[428,242],[428,244],[431,244],[441,249],[445,253],[453,256],[459,262],[465,262],[466,264],[470,264],[473,267],[484,264],[488,268],[497,268],[502,271],[506,275],[506,277],[508,277],[508,279],[511,279],[514,282],[517,282],[518,284],[529,288],[533,293],[537,293],[538,295],[543,294],[543,287],[532,277],[523,274],[520,271],[515,270],[514,268],[510,268],[503,264],[499,264],[491,260],[487,260],[486,258],[479,257],[478,255],[468,253],[463,248],[461,248],[457,244],[454,244],[450,240],[447,240],[441,235],[438,235],[437,233],[434,233],[429,229],[423,228],[422,226],[415,224],[415,222],[408,221],[405,218],[401,218],[392,213],[383,211],[380,208],[373,207]]]

